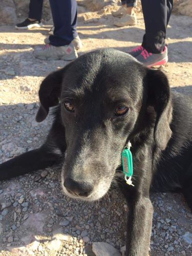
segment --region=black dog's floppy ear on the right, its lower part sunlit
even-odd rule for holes
[[[154,128],[154,139],[156,145],[165,150],[172,136],[170,122],[172,121],[172,99],[168,79],[160,70],[148,70],[148,105],[154,106],[156,111],[156,122]]]

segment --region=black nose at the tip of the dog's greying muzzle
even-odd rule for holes
[[[92,183],[86,181],[77,182],[71,178],[65,179],[64,186],[70,194],[80,197],[88,197],[93,191]]]

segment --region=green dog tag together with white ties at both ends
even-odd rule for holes
[[[123,173],[124,173],[124,179],[126,181],[126,184],[134,186],[132,183],[133,157],[130,151],[130,147],[131,147],[131,143],[129,141],[128,145],[124,148],[124,150],[121,153],[121,159],[122,159]]]

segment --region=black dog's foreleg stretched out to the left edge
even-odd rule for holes
[[[0,164],[0,180],[10,179],[19,175],[52,166],[59,156],[50,152],[45,144],[37,150],[26,152],[5,163]]]

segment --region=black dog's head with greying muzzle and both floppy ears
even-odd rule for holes
[[[166,76],[129,54],[99,50],[79,57],[42,81],[36,120],[60,102],[67,150],[63,190],[97,200],[109,189],[127,141],[144,129],[148,106],[156,113],[154,144],[164,150],[172,132]]]

